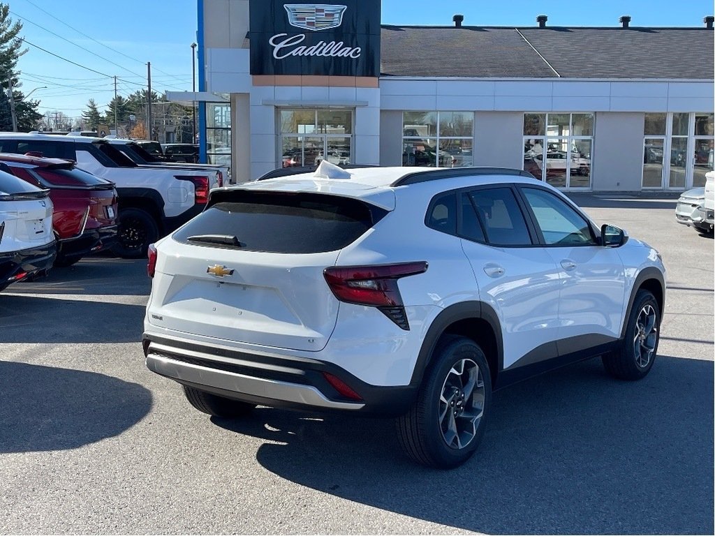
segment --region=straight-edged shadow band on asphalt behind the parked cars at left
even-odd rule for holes
[[[144,303],[104,303],[3,292],[0,343],[139,342],[145,309]]]

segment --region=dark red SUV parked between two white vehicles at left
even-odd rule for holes
[[[57,239],[55,266],[69,266],[87,254],[112,247],[117,239],[117,190],[113,182],[74,167],[71,160],[56,158],[0,154],[0,167],[49,189]]]

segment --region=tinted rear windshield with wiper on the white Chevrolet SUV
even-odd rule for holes
[[[236,191],[224,197],[174,239],[258,252],[330,252],[354,242],[386,214],[358,199],[325,194]]]

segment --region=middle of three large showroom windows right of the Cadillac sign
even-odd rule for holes
[[[523,169],[557,188],[591,187],[593,114],[524,114]]]

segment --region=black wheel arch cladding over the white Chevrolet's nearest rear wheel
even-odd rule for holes
[[[496,385],[504,364],[501,327],[494,309],[483,302],[454,304],[437,315],[425,335],[410,385],[422,383],[434,349],[443,335],[460,335],[479,344],[489,364],[492,386]]]

